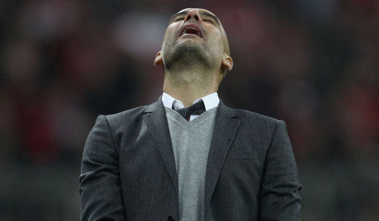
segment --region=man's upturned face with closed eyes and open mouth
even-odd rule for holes
[[[174,64],[195,62],[220,68],[223,59],[230,58],[228,53],[229,46],[219,19],[208,10],[187,8],[171,17],[157,58],[168,69]]]

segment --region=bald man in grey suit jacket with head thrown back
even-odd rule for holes
[[[81,220],[301,220],[284,121],[218,97],[233,66],[219,19],[192,8],[172,16],[155,65],[164,71],[157,102],[96,119]]]

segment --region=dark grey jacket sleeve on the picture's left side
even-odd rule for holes
[[[125,220],[119,153],[104,115],[85,143],[79,183],[81,221]]]

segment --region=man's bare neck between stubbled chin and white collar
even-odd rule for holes
[[[217,76],[217,77],[216,77]],[[195,72],[165,70],[163,91],[175,99],[180,100],[187,108],[201,97],[218,91],[219,75],[212,72]]]

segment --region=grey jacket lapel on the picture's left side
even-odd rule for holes
[[[164,110],[162,102],[162,95],[159,96],[157,102],[147,106],[145,112],[151,113],[142,117],[143,122],[146,124],[150,136],[156,143],[156,147],[158,148],[164,166],[171,177],[176,193],[179,193],[174,152],[172,150],[171,137],[168,129],[166,111]]]

